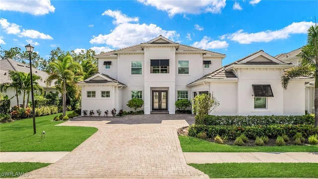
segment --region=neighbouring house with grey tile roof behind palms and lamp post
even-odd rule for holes
[[[16,71],[16,72],[24,72],[24,73],[30,73],[30,67],[26,64],[16,62],[12,59],[2,59],[0,60],[0,84],[3,83],[11,83],[12,80],[9,78],[9,71]],[[44,93],[48,92],[54,92],[57,93],[57,89],[53,87],[47,87],[45,80],[49,76],[46,72],[43,72],[41,70],[38,70],[36,68],[32,68],[32,75],[37,75],[42,78],[42,81],[37,81],[39,85],[44,89]],[[54,83],[52,83],[54,85]],[[6,92],[3,92],[4,94],[8,95],[9,98],[14,96],[10,101],[10,106],[16,105],[16,97],[15,97],[15,90],[12,88],[7,89]],[[25,97],[25,100],[27,100],[27,96]],[[31,96],[29,98],[31,100]],[[23,103],[23,94],[19,95],[19,103],[22,105]]]

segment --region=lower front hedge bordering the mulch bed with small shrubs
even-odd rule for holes
[[[227,136],[229,139],[236,139],[244,134],[249,139],[256,139],[257,136],[268,136],[276,138],[279,135],[294,136],[297,132],[301,132],[306,138],[311,135],[318,134],[318,127],[308,124],[291,125],[291,124],[271,124],[271,125],[254,125],[254,126],[238,126],[238,125],[198,125],[189,126],[188,135],[196,137],[200,132],[206,132],[207,138],[214,138],[217,135]]]

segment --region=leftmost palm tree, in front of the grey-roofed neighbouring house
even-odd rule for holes
[[[18,108],[20,108],[19,103],[19,95],[21,94],[21,86],[22,86],[22,78],[23,74],[21,72],[16,71],[9,71],[9,77],[12,80],[11,83],[3,83],[0,85],[0,91],[6,92],[8,88],[13,88],[15,90],[15,96],[16,96],[16,105]]]

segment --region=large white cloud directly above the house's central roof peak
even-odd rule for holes
[[[91,44],[106,44],[114,48],[124,48],[142,42],[147,42],[159,35],[171,40],[179,37],[179,34],[177,34],[176,31],[163,30],[156,24],[148,25],[145,23],[128,23],[136,21],[138,17],[131,18],[119,11],[116,11],[116,13],[107,13],[107,15],[108,14],[115,18],[114,23],[116,23],[117,26],[111,30],[111,33],[109,34],[93,36],[93,38],[89,41]]]

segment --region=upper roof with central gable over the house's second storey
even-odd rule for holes
[[[176,42],[173,42],[161,35],[158,37],[154,38],[153,40],[150,40],[146,43],[141,43],[138,45],[126,47],[126,48],[121,48],[118,50],[106,52],[103,54],[95,55],[95,58],[99,57],[105,57],[105,56],[111,56],[111,55],[116,55],[119,53],[144,53],[144,46],[153,46],[153,45],[173,45],[177,46],[176,48],[176,53],[184,53],[184,52],[197,52],[197,53],[202,53],[202,54],[208,54],[208,55],[213,55],[213,56],[220,56],[221,58],[225,57],[225,54],[217,53],[217,52],[212,52],[208,50],[203,50],[199,49],[196,47],[188,46],[188,45],[182,45]]]

